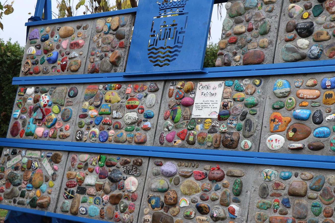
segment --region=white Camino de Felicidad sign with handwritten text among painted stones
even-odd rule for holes
[[[224,81],[199,82],[192,118],[215,118],[219,113]]]

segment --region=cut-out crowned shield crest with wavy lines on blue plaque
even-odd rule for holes
[[[148,42],[148,59],[153,66],[169,66],[178,58],[187,26],[187,2],[188,0],[156,1],[159,11],[152,18]]]

